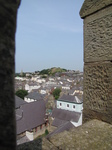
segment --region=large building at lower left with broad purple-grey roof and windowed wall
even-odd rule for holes
[[[48,128],[44,100],[34,101],[32,103],[21,102],[16,109],[16,125],[17,144],[32,141],[39,135],[44,134]]]

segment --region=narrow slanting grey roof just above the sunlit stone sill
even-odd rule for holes
[[[61,126],[59,126],[57,129],[55,129],[53,132],[47,135],[46,138],[50,138],[51,136],[61,133],[63,131],[69,131],[71,128],[75,128],[74,125],[71,122],[65,122]]]

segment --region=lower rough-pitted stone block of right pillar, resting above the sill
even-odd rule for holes
[[[84,121],[97,118],[112,124],[112,62],[84,66]]]

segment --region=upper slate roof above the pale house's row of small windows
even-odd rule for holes
[[[66,101],[66,102],[72,102],[72,103],[82,103],[82,100],[80,100],[77,96],[74,95],[62,95],[58,101]]]

